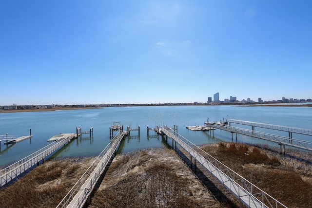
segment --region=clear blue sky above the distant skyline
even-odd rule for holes
[[[0,105],[312,98],[312,0],[0,0]]]

